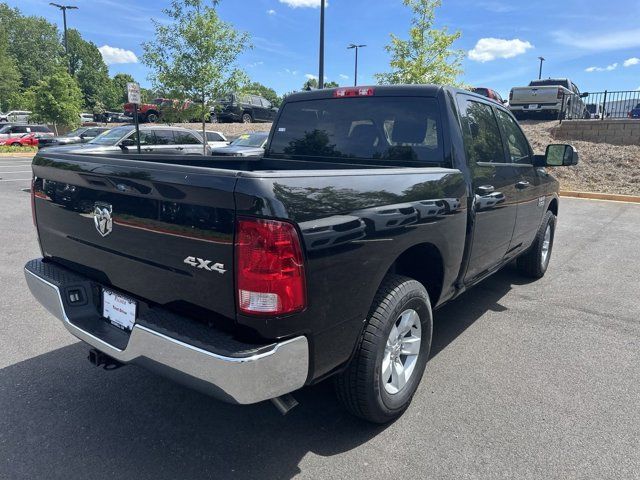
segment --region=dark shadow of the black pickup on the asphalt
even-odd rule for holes
[[[500,272],[438,311],[432,356],[514,283]],[[296,393],[300,406],[282,417],[269,402],[219,403],[137,367],[96,369],[87,350],[76,343],[0,370],[0,477],[288,479],[308,454],[339,455],[386,428],[347,414],[331,382]],[[344,477],[334,467],[327,475]]]

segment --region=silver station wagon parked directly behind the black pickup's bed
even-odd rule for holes
[[[48,152],[65,153],[137,153],[136,130],[123,125],[98,135],[81,145],[49,147]],[[211,148],[206,145],[206,155]],[[202,155],[202,137],[194,130],[162,125],[140,125],[140,153],[154,155]]]

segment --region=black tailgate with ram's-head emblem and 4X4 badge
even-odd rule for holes
[[[235,172],[47,153],[33,172],[45,258],[166,308],[234,318]]]

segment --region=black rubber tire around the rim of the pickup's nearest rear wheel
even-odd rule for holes
[[[420,319],[421,342],[415,367],[402,389],[391,394],[382,379],[387,339],[400,315],[414,310]],[[376,293],[356,353],[347,369],[335,377],[338,399],[364,420],[387,423],[404,413],[416,392],[429,358],[433,315],[424,286],[411,278],[388,275]]]

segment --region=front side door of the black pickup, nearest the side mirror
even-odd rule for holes
[[[545,185],[533,166],[533,151],[517,122],[506,111],[496,109],[498,123],[507,146],[508,160],[516,180],[518,214],[511,248],[528,245],[540,226],[545,205]]]

